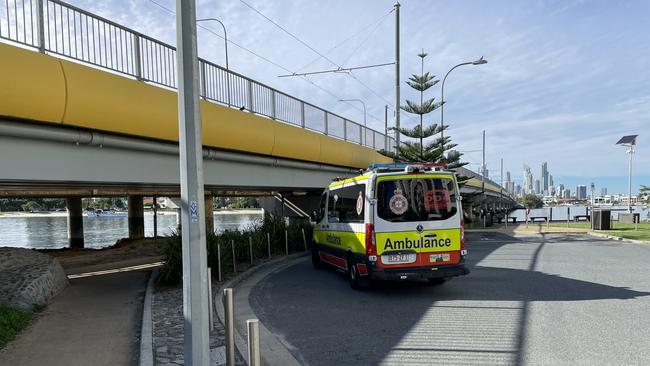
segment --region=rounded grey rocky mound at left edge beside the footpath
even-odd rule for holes
[[[68,286],[59,261],[31,249],[0,248],[0,303],[31,312]]]

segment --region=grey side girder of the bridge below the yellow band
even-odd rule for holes
[[[0,121],[0,197],[167,195],[179,192],[178,147],[54,126]],[[304,194],[354,169],[204,149],[206,194]]]

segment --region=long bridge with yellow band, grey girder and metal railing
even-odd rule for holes
[[[0,5],[0,40],[0,197],[68,198],[70,242],[83,245],[81,197],[129,196],[129,235],[142,236],[142,197],[179,194],[175,48],[58,0]],[[386,131],[208,60],[199,68],[206,199],[301,201],[392,161]],[[464,193],[481,190],[461,174]],[[484,192],[493,207],[514,203],[492,181]]]

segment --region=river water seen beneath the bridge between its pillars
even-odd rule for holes
[[[221,214],[215,212],[214,227],[223,230],[246,229],[262,220],[259,213]],[[170,235],[176,229],[177,216],[158,214],[158,235]],[[146,236],[153,236],[153,214],[144,216]],[[84,217],[84,240],[87,248],[103,248],[129,235],[127,217]],[[0,216],[0,247],[54,249],[68,246],[65,216],[2,217]]]

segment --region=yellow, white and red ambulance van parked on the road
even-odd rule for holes
[[[314,267],[345,271],[354,289],[469,273],[458,184],[444,165],[374,164],[336,180],[314,221]]]

